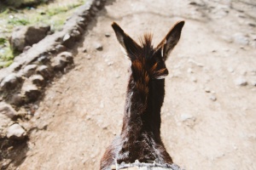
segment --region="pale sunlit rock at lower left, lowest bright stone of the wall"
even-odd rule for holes
[[[18,123],[11,125],[7,129],[7,138],[9,139],[22,140],[25,137],[26,137],[26,131],[24,130],[24,128],[20,127]]]

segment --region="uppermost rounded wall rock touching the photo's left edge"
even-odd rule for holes
[[[16,88],[21,81],[22,78],[19,75],[13,73],[3,78],[3,81],[0,83],[0,88],[3,90],[11,90]]]

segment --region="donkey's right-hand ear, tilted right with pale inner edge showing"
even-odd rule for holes
[[[176,46],[184,24],[185,21],[178,21],[168,32],[162,42],[160,42],[160,44],[157,46],[157,48],[161,50],[161,55],[164,60],[167,59],[168,54],[170,54],[172,52],[172,49]]]

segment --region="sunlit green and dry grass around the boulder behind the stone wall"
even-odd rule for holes
[[[43,3],[37,8],[22,9],[0,8],[0,68],[9,66],[15,58],[15,53],[9,45],[9,37],[16,26],[45,26],[51,31],[61,31],[68,16],[75,8],[84,4],[85,0],[55,0],[53,3]]]

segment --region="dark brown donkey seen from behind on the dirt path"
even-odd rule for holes
[[[184,21],[179,21],[154,48],[152,35],[145,34],[137,44],[119,25],[113,31],[131,60],[131,75],[125,99],[123,127],[102,156],[101,169],[132,162],[172,164],[160,138],[160,109],[165,96],[166,59],[181,36]]]

